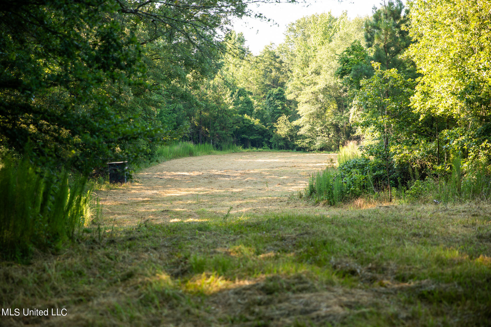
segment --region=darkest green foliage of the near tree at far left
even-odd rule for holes
[[[36,164],[86,172],[123,154],[124,142],[158,132],[110,108],[119,101],[112,88],[140,85],[144,73],[135,34],[108,19],[117,10],[91,0],[0,9],[1,143],[21,151],[30,139]]]

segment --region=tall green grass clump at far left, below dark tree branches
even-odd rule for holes
[[[86,178],[68,186],[68,174],[42,174],[26,159],[0,169],[0,256],[21,260],[33,248],[59,248],[90,217]]]

